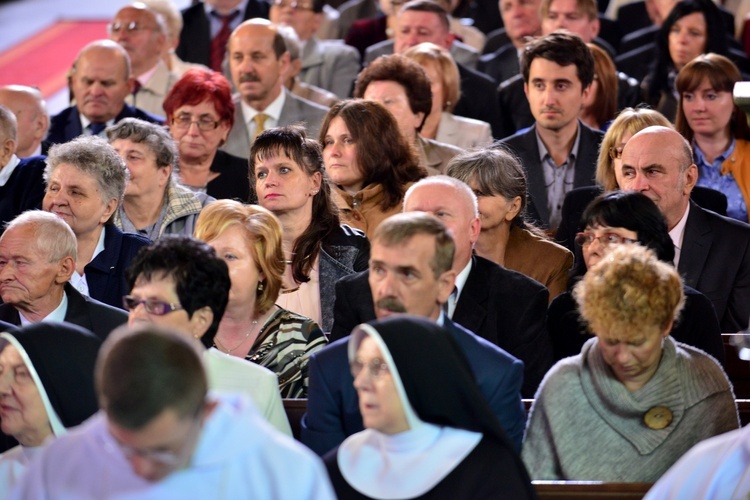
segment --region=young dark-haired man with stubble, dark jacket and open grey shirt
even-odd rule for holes
[[[503,142],[526,169],[537,222],[554,231],[560,224],[565,193],[594,183],[604,134],[578,119],[591,91],[594,58],[578,35],[554,32],[528,45],[522,70],[536,123]]]

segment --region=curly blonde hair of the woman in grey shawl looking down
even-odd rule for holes
[[[677,270],[636,244],[613,248],[584,275],[573,296],[592,333],[625,341],[665,331],[685,301]]]

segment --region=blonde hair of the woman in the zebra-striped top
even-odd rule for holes
[[[198,216],[195,237],[209,243],[230,227],[242,229],[247,248],[258,270],[264,275],[264,279],[259,281],[263,284],[263,290],[259,290],[255,298],[255,309],[263,314],[273,306],[281,291],[285,268],[281,223],[261,206],[217,200],[207,205]]]

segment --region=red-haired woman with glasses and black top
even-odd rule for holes
[[[247,161],[220,151],[234,125],[232,88],[221,73],[191,69],[164,99],[179,151],[180,182],[218,199],[250,199]]]

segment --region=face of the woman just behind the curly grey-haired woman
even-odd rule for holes
[[[126,197],[164,193],[172,169],[157,166],[156,154],[150,147],[130,139],[116,139],[112,142],[112,147],[125,160],[130,171],[130,178],[125,185]]]

